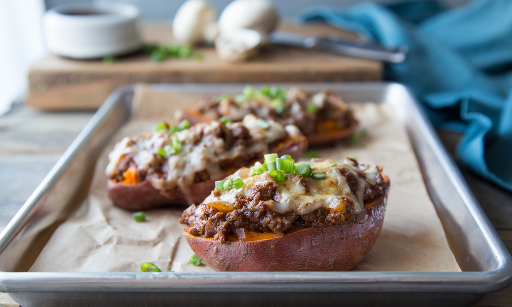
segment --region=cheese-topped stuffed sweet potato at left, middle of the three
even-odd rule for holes
[[[125,137],[109,154],[108,193],[119,207],[145,210],[170,204],[200,203],[215,180],[278,151],[300,157],[306,137],[249,114],[241,122],[218,120],[188,127],[160,123],[153,133]]]

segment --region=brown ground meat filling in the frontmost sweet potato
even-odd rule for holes
[[[350,189],[356,191],[357,179],[355,177],[353,180],[356,181],[350,179],[353,175],[349,171],[341,173],[346,176]],[[362,174],[362,176],[365,175]],[[305,189],[311,185],[312,180],[304,179],[301,175],[289,174],[288,177],[290,180],[300,182]],[[365,204],[385,195],[388,187],[380,174],[375,176],[375,185],[367,181],[364,193]],[[266,181],[264,185],[254,185],[249,188],[246,196],[236,195],[227,209],[216,208],[212,203],[192,205],[185,210],[180,222],[189,226],[185,231],[190,235],[227,242],[242,240],[248,231],[284,235],[305,227],[328,227],[351,222],[357,217],[354,204],[349,198],[344,199],[347,206],[342,211],[320,207],[304,215],[298,215],[292,211],[275,212],[268,203],[269,200],[281,201],[277,188],[278,184],[273,181]],[[223,191],[215,190],[211,195],[218,197],[221,193]]]

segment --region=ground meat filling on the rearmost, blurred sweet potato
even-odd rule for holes
[[[240,121],[252,113],[260,118],[279,121],[282,125],[295,125],[306,136],[342,130],[357,123],[348,104],[330,90],[311,93],[292,87],[280,114],[275,112],[269,101],[261,97],[244,103],[236,103],[231,97],[220,101],[219,98],[202,98],[198,111],[212,118],[226,117],[232,121]]]

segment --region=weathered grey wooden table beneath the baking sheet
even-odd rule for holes
[[[93,112],[42,112],[22,104],[0,116],[0,229],[37,187]],[[457,134],[441,133],[453,153]],[[512,193],[483,181],[462,168],[483,209],[512,250]],[[475,306],[512,305],[512,286],[486,295]],[[0,306],[19,306],[0,293]]]

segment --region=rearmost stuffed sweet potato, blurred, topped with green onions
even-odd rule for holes
[[[234,97],[203,98],[197,109],[181,110],[177,117],[190,122],[219,118],[240,121],[247,114],[297,126],[308,138],[310,146],[331,144],[350,136],[358,128],[349,105],[335,92],[312,93],[298,87],[288,91],[280,87],[262,87],[255,91],[247,86],[243,94]]]

